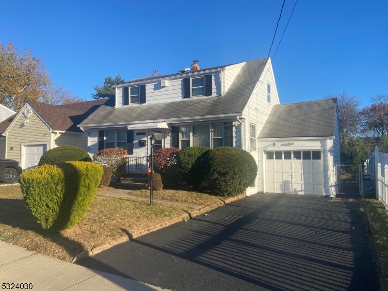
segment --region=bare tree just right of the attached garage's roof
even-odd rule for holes
[[[360,100],[356,95],[350,96],[348,92],[342,94],[327,95],[325,98],[337,98],[339,131],[341,141],[348,136],[355,136],[359,133],[361,116],[359,113]]]

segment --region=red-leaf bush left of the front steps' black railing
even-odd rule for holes
[[[120,182],[126,172],[125,157],[127,150],[122,148],[105,148],[93,155],[93,161],[101,166],[112,169],[112,177]]]

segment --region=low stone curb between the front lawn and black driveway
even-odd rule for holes
[[[82,258],[86,258],[86,257],[93,257],[94,255],[101,253],[102,251],[105,251],[105,250],[113,247],[116,244],[136,239],[142,235],[145,235],[147,233],[162,229],[162,228],[167,227],[167,226],[171,226],[171,225],[173,225],[177,222],[180,222],[182,220],[187,221],[190,218],[204,214],[206,212],[209,212],[210,210],[216,209],[220,206],[224,206],[226,204],[229,204],[231,202],[234,202],[234,201],[239,200],[239,199],[244,198],[244,197],[246,197],[245,193],[240,194],[236,197],[231,197],[231,198],[227,198],[225,200],[221,200],[221,202],[211,204],[210,206],[203,207],[199,210],[187,211],[187,214],[183,214],[183,215],[180,215],[178,217],[174,217],[172,219],[169,219],[169,220],[162,222],[162,223],[155,225],[155,226],[149,226],[149,227],[143,228],[141,230],[129,233],[128,235],[124,235],[124,236],[119,237],[118,239],[115,239],[113,241],[109,241],[109,242],[106,242],[106,243],[101,244],[99,246],[96,246],[96,247],[92,248],[91,250],[85,250],[85,251],[79,253],[78,255],[76,255],[73,258],[72,262],[74,263],[74,262],[76,262]]]

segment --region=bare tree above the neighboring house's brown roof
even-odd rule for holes
[[[66,89],[65,85],[60,85],[57,82],[50,82],[47,90],[39,97],[38,101],[50,105],[62,105],[84,102],[87,100],[74,96],[73,91]]]

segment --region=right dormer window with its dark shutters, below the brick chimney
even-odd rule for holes
[[[183,79],[183,98],[211,95],[213,95],[211,75]]]

